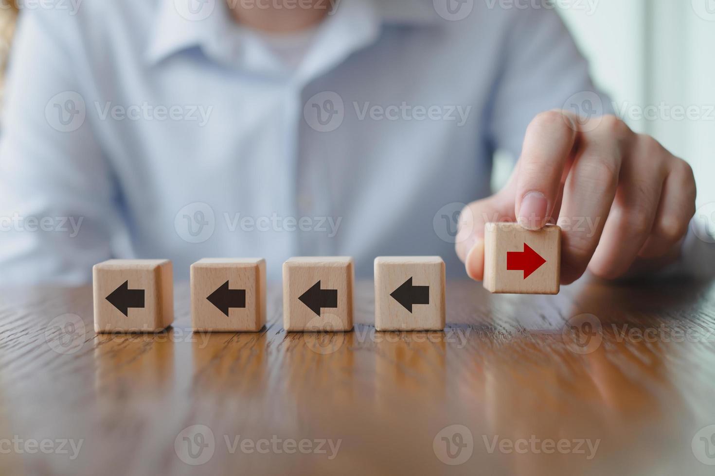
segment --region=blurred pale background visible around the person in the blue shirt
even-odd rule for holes
[[[611,98],[613,111],[689,161],[698,185],[697,206],[715,202],[715,0],[552,3],[590,62],[596,84]],[[17,15],[13,0],[0,0],[0,101]],[[498,190],[513,162],[501,152],[495,161],[492,183]]]

